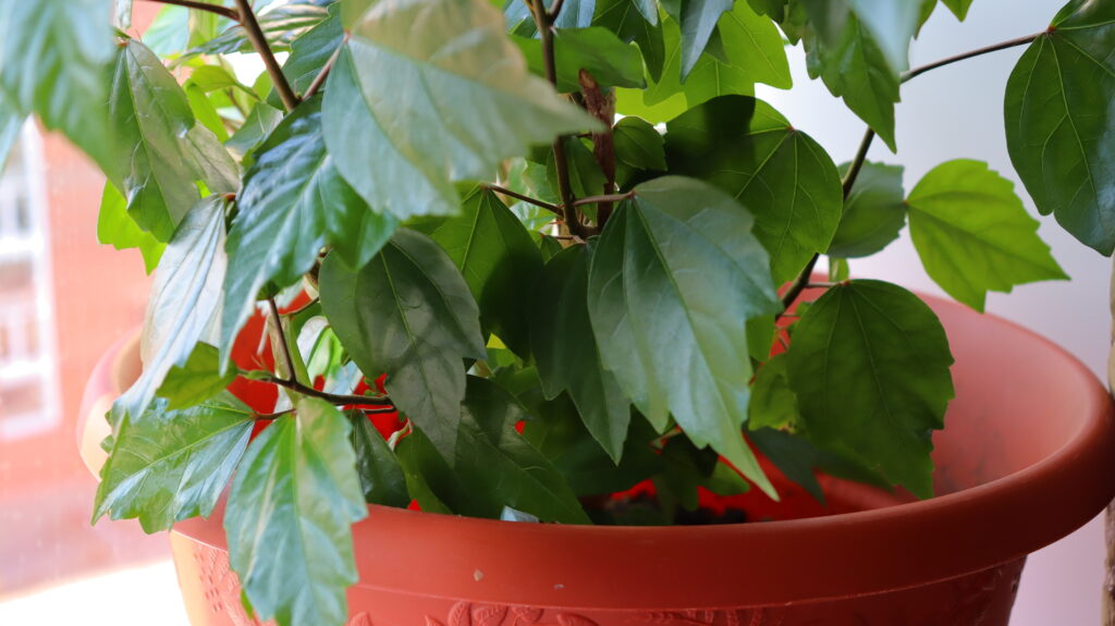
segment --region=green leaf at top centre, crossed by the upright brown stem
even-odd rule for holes
[[[545,76],[542,42],[526,37],[513,38],[537,76]],[[601,88],[647,86],[642,77],[639,50],[621,41],[605,28],[556,30],[553,38],[558,69],[558,90],[580,92],[580,71],[586,70]]]

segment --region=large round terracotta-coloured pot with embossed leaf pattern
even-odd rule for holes
[[[957,399],[934,440],[937,498],[900,503],[828,480],[841,510],[879,508],[667,528],[372,506],[353,528],[360,583],[349,590],[349,624],[1006,625],[1025,556],[1115,497],[1112,407],[1099,381],[1045,339],[927,300],[957,358]],[[87,399],[118,393],[136,359],[107,354]],[[220,510],[180,524],[172,545],[194,626],[254,624],[229,570]]]

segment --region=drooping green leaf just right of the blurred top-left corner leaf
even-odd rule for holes
[[[146,46],[128,40],[119,48],[112,85],[109,179],[136,224],[168,241],[201,197],[198,182],[212,193],[233,193],[239,172],[216,137],[195,125],[185,91]]]

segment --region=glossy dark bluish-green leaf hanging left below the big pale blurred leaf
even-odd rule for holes
[[[328,242],[359,267],[398,222],[374,213],[338,174],[321,138],[321,99],[301,104],[255,150],[229,232],[230,271],[221,320],[227,354],[268,281],[294,284]]]

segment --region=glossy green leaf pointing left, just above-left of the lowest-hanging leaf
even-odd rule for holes
[[[125,415],[113,433],[93,520],[138,518],[145,532],[209,517],[252,433],[253,413],[230,393],[173,411],[165,400]]]

